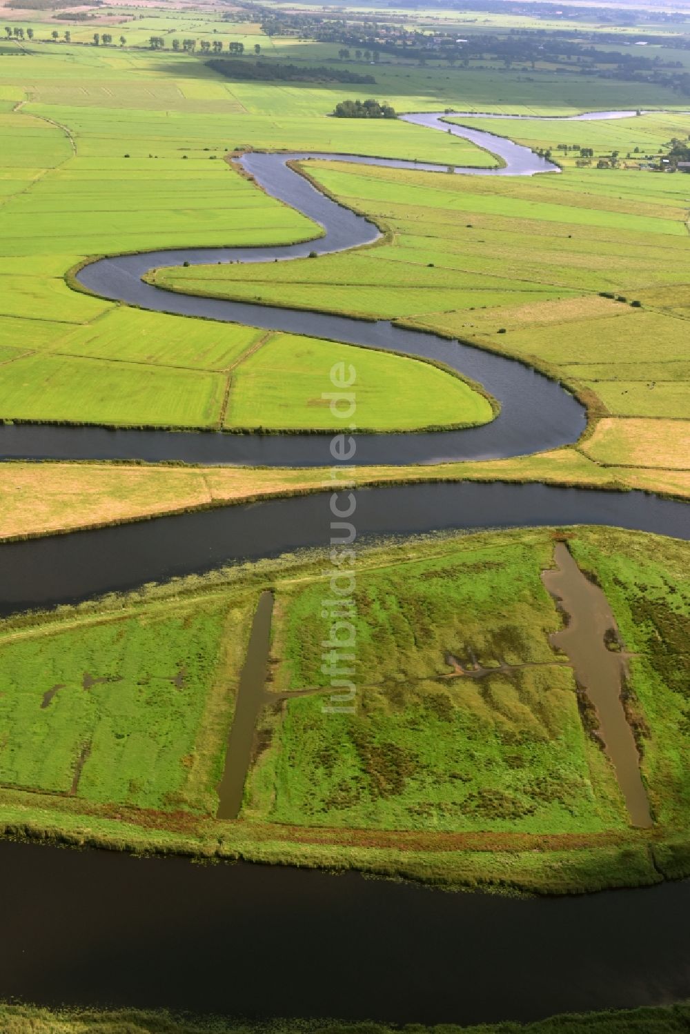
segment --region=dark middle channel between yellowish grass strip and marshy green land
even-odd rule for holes
[[[74,603],[241,559],[327,545],[322,493],[0,546],[0,613]],[[357,492],[360,541],[382,535],[548,524],[608,524],[690,535],[686,504],[643,492],[474,482],[395,485]]]

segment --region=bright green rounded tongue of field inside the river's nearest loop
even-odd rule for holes
[[[13,340],[11,327],[9,331]],[[321,397],[329,383],[324,369],[338,361],[357,363],[363,427],[461,426],[493,416],[483,395],[450,373],[351,345],[232,324],[218,333],[208,322],[125,307],[112,309],[87,328],[61,331],[42,349],[4,346],[0,410],[6,420],[324,430],[333,426],[328,402]],[[287,397],[280,390],[284,381],[276,382],[286,369],[295,374]],[[404,415],[393,408],[392,391],[409,398]]]

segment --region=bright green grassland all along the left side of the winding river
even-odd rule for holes
[[[124,30],[128,47],[148,43],[151,32],[169,38],[180,19],[185,16],[139,20]],[[226,41],[238,38],[234,27],[211,22]],[[48,38],[50,28],[37,19],[36,39]],[[259,33],[276,50],[258,26],[245,28],[247,47]],[[77,42],[90,39],[93,27],[72,31]],[[231,368],[244,345],[250,347],[251,331],[139,312],[71,291],[64,279],[94,254],[280,244],[319,235],[308,219],[231,172],[222,160],[228,152],[246,146],[400,157],[431,152],[441,161],[493,163],[471,144],[402,123],[341,125],[327,118],[335,96],[328,89],[229,83],[187,55],[27,41],[17,48],[0,69],[4,420],[233,427],[227,419]],[[327,346],[321,351],[327,379]],[[367,362],[358,356],[365,381]],[[440,391],[438,371],[378,358],[369,378],[376,397],[370,413],[363,403],[363,426],[400,429],[396,419],[390,424],[379,416],[374,378],[382,363],[390,364],[386,379],[418,399],[415,426],[474,423],[477,413],[488,419],[484,400],[456,378],[444,377]],[[308,369],[297,372],[308,379]],[[231,408],[237,401],[232,398]],[[244,429],[276,428],[261,394],[240,408],[251,416]],[[331,426],[320,424],[323,406],[299,395],[282,400],[281,415],[283,427]]]

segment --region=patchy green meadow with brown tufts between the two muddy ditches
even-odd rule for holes
[[[422,555],[424,550],[422,550]],[[541,584],[548,536],[458,542],[365,570],[354,597],[359,704],[326,696],[267,713],[272,746],[246,791],[252,818],[337,828],[600,832],[627,825],[610,766],[582,733],[573,674],[554,662],[560,618]],[[277,595],[276,688],[328,688],[323,582]],[[514,671],[447,677],[468,667]]]

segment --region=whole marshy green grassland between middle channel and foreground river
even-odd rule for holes
[[[580,720],[573,674],[549,646],[561,618],[540,580],[552,549],[543,529],[364,551],[354,714],[322,710],[330,691],[314,658],[328,586],[319,554],[8,618],[2,828],[542,891],[685,874],[688,547],[609,529],[567,534],[634,652],[627,706],[654,829],[628,825],[613,769]],[[314,694],[260,714],[240,817],[219,821],[249,616],[267,586],[276,599],[268,689]],[[448,678],[448,651],[513,667]]]

